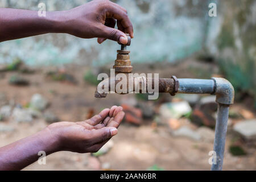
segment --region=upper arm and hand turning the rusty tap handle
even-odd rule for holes
[[[90,1],[68,11],[47,11],[46,17],[38,16],[38,11],[0,8],[0,42],[48,33],[126,44],[125,33],[133,38],[133,25],[126,9],[108,0]]]

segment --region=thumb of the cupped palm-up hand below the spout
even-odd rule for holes
[[[92,143],[101,143],[116,135],[117,129],[115,127],[102,127],[98,130],[91,130],[91,132]]]

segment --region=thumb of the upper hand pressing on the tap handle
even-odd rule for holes
[[[102,25],[101,37],[110,39],[110,40],[114,40],[114,41],[122,43],[122,44],[127,44],[127,42],[128,42],[128,38],[124,32],[122,32],[118,29],[115,29],[115,28],[104,26],[104,25]]]

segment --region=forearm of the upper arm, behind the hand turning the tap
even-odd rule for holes
[[[0,42],[28,36],[65,33],[64,11],[48,11],[38,16],[38,11],[0,8]]]

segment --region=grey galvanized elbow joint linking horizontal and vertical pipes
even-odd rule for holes
[[[225,78],[212,78],[215,82],[214,95],[219,104],[230,105],[234,103],[234,87]]]

